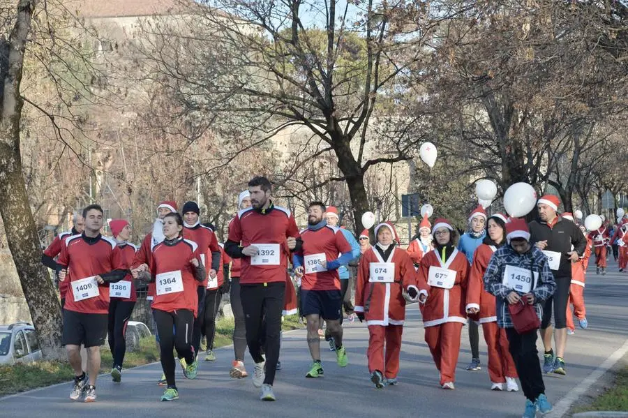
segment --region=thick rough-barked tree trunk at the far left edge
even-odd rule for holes
[[[61,306],[46,268],[33,219],[20,156],[22,105],[20,82],[24,45],[31,30],[36,0],[20,0],[8,42],[0,50],[0,81],[3,84],[0,117],[0,215],[13,262],[20,277],[44,357],[61,357]]]

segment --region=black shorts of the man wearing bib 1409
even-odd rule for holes
[[[109,315],[63,311],[63,345],[98,347],[105,343]]]

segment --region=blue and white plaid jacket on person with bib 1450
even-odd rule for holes
[[[486,267],[486,272],[484,273],[484,289],[486,292],[493,294],[496,299],[495,311],[497,311],[498,326],[500,328],[513,327],[510,312],[507,308],[508,301],[506,300],[508,294],[513,290],[502,284],[504,270],[507,265],[540,272],[537,285],[532,290],[535,299],[534,309],[537,311],[537,316],[540,320],[543,315],[541,302],[551,297],[556,288],[554,276],[547,264],[547,257],[535,246],[532,246],[527,253],[518,254],[507,244],[501,246],[498,251],[493,253],[493,257],[488,262],[488,267]],[[518,294],[521,295],[523,293],[518,292]]]

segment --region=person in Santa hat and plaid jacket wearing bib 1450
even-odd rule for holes
[[[558,205],[557,205],[558,206]],[[541,213],[544,213],[543,209]],[[567,221],[562,221],[567,223]],[[536,226],[536,225],[535,225]],[[557,224],[554,225],[558,227]],[[537,352],[537,330],[518,334],[510,317],[508,304],[527,303],[541,320],[542,304],[551,299],[556,288],[548,258],[530,245],[530,232],[523,219],[511,219],[506,224],[507,245],[495,251],[484,274],[484,288],[496,299],[498,325],[506,330],[509,350],[514,360],[521,388],[525,395],[523,418],[534,418],[552,410],[545,396],[545,385]],[[512,283],[514,277],[522,281]],[[534,283],[532,282],[534,276]],[[525,278],[528,280],[526,281]],[[514,290],[517,288],[518,290]]]

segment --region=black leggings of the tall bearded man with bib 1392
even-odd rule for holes
[[[272,385],[275,380],[281,339],[281,311],[285,296],[285,281],[241,285],[240,297],[246,322],[246,343],[255,363],[264,361],[262,343],[266,353],[266,378]],[[264,336],[262,337],[262,334]]]

